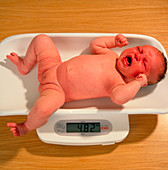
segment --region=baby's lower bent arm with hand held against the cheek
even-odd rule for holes
[[[118,105],[122,105],[131,100],[137,94],[139,89],[146,85],[146,75],[139,74],[135,80],[131,81],[130,83],[121,84],[112,89],[111,100]]]

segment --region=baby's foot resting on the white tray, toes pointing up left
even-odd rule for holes
[[[7,55],[6,57],[17,66],[17,68],[21,74],[25,75],[28,73],[26,71],[26,67],[24,66],[23,59],[20,58],[16,53],[12,52],[12,53],[10,53],[10,55]]]

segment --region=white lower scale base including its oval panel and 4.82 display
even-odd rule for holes
[[[37,129],[45,143],[60,145],[111,145],[129,133],[128,114],[54,113],[47,124]]]

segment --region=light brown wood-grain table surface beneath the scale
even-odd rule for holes
[[[167,0],[0,0],[0,41],[21,33],[136,33],[168,52]],[[14,138],[0,117],[0,169],[168,169],[168,115],[131,115],[130,133],[111,146],[42,143],[32,131]]]

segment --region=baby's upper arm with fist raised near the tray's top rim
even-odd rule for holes
[[[93,40],[90,43],[90,49],[94,54],[105,54],[114,47],[123,47],[128,45],[127,39],[122,35],[118,34],[116,36],[104,36]]]

